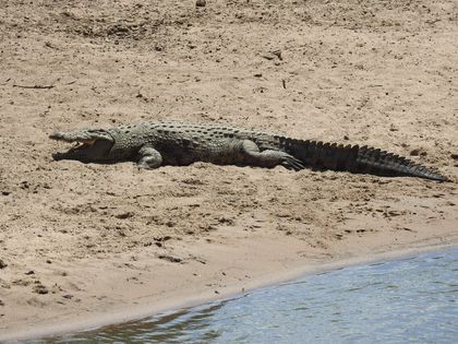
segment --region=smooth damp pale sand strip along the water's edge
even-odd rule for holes
[[[382,238],[384,245],[381,245],[381,238],[374,237],[359,242],[363,249],[354,242],[341,242],[340,248],[330,249],[333,253],[327,252],[326,257],[309,250],[293,238],[236,233],[230,238],[221,238],[224,244],[193,242],[182,247],[180,256],[200,254],[202,259],[191,260],[185,266],[164,264],[150,257],[137,257],[136,273],[132,271],[133,264],[130,264],[130,271],[119,269],[129,257],[124,260],[111,259],[109,264],[106,261],[99,264],[93,262],[91,269],[87,269],[87,263],[80,263],[68,269],[81,270],[81,273],[74,273],[76,278],[86,283],[92,281],[88,283],[92,290],[77,293],[82,297],[79,307],[68,311],[50,307],[46,313],[10,323],[7,331],[0,333],[0,342],[48,337],[143,319],[309,273],[458,246],[456,228],[446,223],[442,225],[441,236],[431,236],[432,230],[425,227],[414,242],[409,237],[397,236],[393,240],[395,244],[385,237]],[[436,230],[437,227],[434,228]],[[203,263],[205,261],[208,263]]]

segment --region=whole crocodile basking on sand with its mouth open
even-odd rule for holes
[[[281,165],[291,170],[330,169],[449,180],[433,168],[379,149],[297,140],[224,123],[143,122],[109,129],[56,131],[49,138],[76,143],[67,152],[52,154],[55,161],[103,164],[133,161],[147,169],[195,162],[268,168]]]

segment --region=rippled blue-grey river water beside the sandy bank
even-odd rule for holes
[[[46,342],[457,343],[458,248],[309,275]]]

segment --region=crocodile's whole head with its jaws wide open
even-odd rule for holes
[[[56,141],[76,143],[75,146],[67,152],[52,154],[55,161],[106,162],[109,161],[109,153],[114,144],[113,138],[101,130],[58,131],[49,135],[49,138]]]

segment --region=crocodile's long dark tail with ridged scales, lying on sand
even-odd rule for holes
[[[377,176],[410,176],[439,181],[449,179],[433,169],[374,147],[279,138],[286,152],[316,169],[347,170]]]

